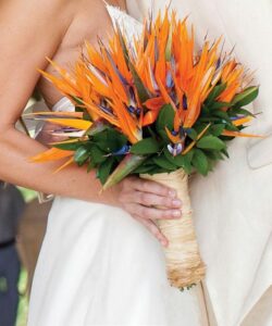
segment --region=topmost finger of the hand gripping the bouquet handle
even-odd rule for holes
[[[125,186],[128,188],[134,188],[135,190],[143,192],[150,192],[158,196],[164,196],[170,198],[176,197],[176,191],[166,186],[160,185],[151,180],[144,180],[137,177],[128,177],[125,180]]]

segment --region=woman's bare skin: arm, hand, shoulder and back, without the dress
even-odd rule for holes
[[[118,1],[116,4],[125,8],[122,2]],[[52,72],[47,66],[46,55],[53,58],[61,65],[70,64],[77,58],[78,46],[83,40],[96,41],[98,34],[106,37],[111,30],[111,21],[103,2],[100,0],[54,0],[45,3],[28,1],[24,4],[15,0],[1,2],[0,24],[1,178],[46,193],[122,206],[165,243],[166,239],[159,235],[158,228],[150,220],[180,217],[180,203],[173,204],[175,193],[172,190],[153,183],[127,178],[120,186],[99,196],[100,186],[95,178],[95,172],[86,178],[85,171],[70,167],[52,175],[54,164],[29,163],[28,158],[44,151],[45,147],[14,128],[37,83],[50,108],[62,97],[46,80],[39,80],[37,67]],[[23,62],[18,53],[24,55]],[[18,60],[20,64],[16,64]],[[150,205],[163,203],[170,210],[146,209],[143,206],[146,203]]]

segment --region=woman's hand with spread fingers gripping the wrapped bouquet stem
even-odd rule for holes
[[[177,199],[176,191],[138,177],[127,177],[119,186],[118,200],[121,208],[144,224],[166,247],[168,239],[157,226],[156,220],[181,218],[182,202]]]

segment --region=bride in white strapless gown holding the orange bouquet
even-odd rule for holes
[[[125,10],[124,1],[110,4]],[[54,163],[29,163],[45,146],[14,128],[36,85],[50,109],[71,109],[37,73],[53,73],[46,57],[70,66],[85,39],[95,42],[112,32],[110,15],[127,30],[140,28],[124,12],[108,10],[102,0],[0,2],[0,178],[55,195],[28,326],[206,325],[197,289],[181,292],[165,274],[168,239],[154,221],[181,218],[175,191],[127,177],[99,196],[95,172],[87,176],[74,166],[53,175]]]

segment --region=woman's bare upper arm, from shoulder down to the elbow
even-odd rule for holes
[[[58,51],[74,8],[75,0],[0,0],[0,98],[9,108],[2,123],[21,114],[39,78],[37,67]]]

